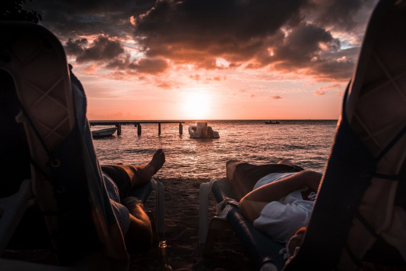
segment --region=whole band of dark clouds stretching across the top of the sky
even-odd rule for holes
[[[328,80],[349,78],[359,51],[341,49],[334,31],[362,36],[376,2],[33,0],[27,7],[79,63],[149,74],[167,71],[168,61],[205,70],[269,67]],[[131,37],[144,54],[136,61],[120,44]]]

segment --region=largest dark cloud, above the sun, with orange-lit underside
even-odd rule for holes
[[[149,57],[166,57],[197,68],[217,69],[216,57],[232,67],[283,38],[280,27],[299,16],[303,0],[157,1],[137,19],[135,35]]]

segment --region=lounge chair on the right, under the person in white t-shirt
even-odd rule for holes
[[[378,3],[343,99],[314,210],[303,242],[289,263],[285,267],[280,264],[279,247],[269,238],[266,242],[273,243],[275,251],[263,254],[257,234],[252,234],[252,224],[242,217],[234,219],[238,217],[234,206],[222,214],[238,229],[236,234],[257,268],[355,270],[365,262],[406,266],[405,26],[405,1]],[[206,207],[210,190],[219,202],[228,193],[220,182],[227,184],[227,179],[214,179],[201,186],[201,207]],[[203,245],[207,211],[201,212],[199,243]],[[206,243],[211,242],[215,226],[209,227]],[[253,247],[255,253],[250,251]]]

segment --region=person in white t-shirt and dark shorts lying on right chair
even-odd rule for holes
[[[322,174],[290,160],[253,165],[230,160],[227,177],[242,215],[275,240],[287,241],[307,225]]]

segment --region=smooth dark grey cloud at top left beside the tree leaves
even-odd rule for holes
[[[154,0],[33,0],[27,9],[42,15],[42,25],[59,38],[105,34],[126,37],[133,32],[131,16],[146,12]]]

